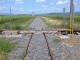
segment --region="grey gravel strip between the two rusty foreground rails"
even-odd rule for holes
[[[51,60],[48,55],[48,47],[43,34],[35,34],[25,60]]]

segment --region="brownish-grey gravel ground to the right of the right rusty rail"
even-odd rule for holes
[[[76,53],[80,52],[79,46],[69,47],[62,42],[54,43],[53,40],[58,38],[54,34],[47,34],[50,48],[54,55],[54,60],[79,60],[79,56]]]

